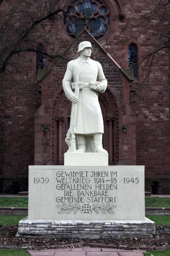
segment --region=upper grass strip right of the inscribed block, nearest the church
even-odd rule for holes
[[[145,197],[145,207],[170,207],[170,197]]]

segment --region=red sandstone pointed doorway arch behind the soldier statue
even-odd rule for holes
[[[104,147],[109,153],[109,164],[116,165],[119,162],[120,103],[110,86],[108,86],[105,93],[99,94],[99,103],[104,121]],[[62,165],[64,153],[67,151],[65,136],[71,115],[71,102],[65,97],[62,86],[54,94],[49,114],[51,116],[52,164]]]

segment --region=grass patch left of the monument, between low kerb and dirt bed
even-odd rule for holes
[[[27,214],[23,215],[8,215],[0,214],[0,225],[18,225],[20,219],[26,218]]]

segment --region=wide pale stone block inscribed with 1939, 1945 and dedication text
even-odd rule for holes
[[[28,219],[144,220],[144,166],[29,166]]]

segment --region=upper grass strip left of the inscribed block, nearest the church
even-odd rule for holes
[[[0,207],[28,207],[28,197],[0,197]]]

